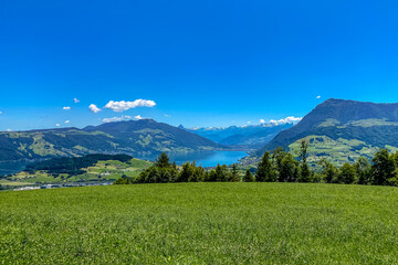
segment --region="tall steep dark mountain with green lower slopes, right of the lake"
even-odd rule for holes
[[[256,155],[279,146],[294,150],[302,138],[310,141],[310,155],[336,155],[334,159],[342,157],[337,162],[370,157],[379,147],[395,149],[398,147],[398,104],[328,99],[297,125],[281,131]]]

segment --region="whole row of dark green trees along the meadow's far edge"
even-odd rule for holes
[[[238,166],[230,168],[218,165],[214,169],[206,170],[195,162],[186,162],[180,169],[170,163],[166,153],[161,153],[154,166],[143,171],[137,178],[123,177],[116,184],[129,183],[167,183],[167,182],[323,182],[346,184],[377,184],[398,186],[398,152],[389,153],[387,149],[379,149],[369,162],[366,158],[358,158],[356,162],[346,162],[336,167],[322,158],[314,170],[307,162],[306,141],[301,142],[298,159],[293,155],[276,148],[266,151],[254,174],[247,169],[240,176]]]

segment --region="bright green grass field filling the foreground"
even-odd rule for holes
[[[398,189],[181,183],[0,192],[1,264],[398,264]]]

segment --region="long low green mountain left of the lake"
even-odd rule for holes
[[[0,132],[0,160],[82,156],[93,152],[150,153],[213,150],[220,145],[153,119],[64,128]]]

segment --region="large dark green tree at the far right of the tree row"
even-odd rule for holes
[[[396,162],[387,149],[379,149],[371,159],[371,176],[374,184],[388,184],[395,177]]]

